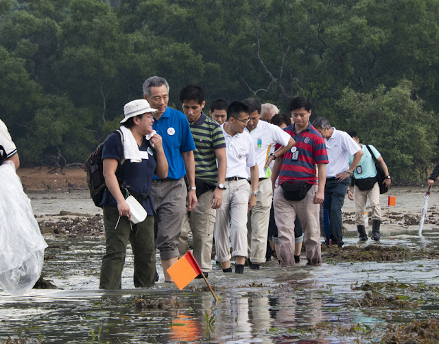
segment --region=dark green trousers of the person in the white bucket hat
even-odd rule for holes
[[[104,206],[106,254],[102,258],[99,288],[120,289],[126,246],[131,243],[134,254],[134,286],[153,286],[156,280],[156,249],[154,247],[154,217],[134,225],[128,217],[121,217],[115,229],[119,212]]]

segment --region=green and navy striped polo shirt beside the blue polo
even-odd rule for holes
[[[195,143],[195,177],[217,184],[218,168],[215,149],[226,147],[226,141],[219,124],[201,113],[198,121],[189,123]]]

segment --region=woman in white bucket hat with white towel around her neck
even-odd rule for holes
[[[168,164],[162,138],[152,130],[156,112],[145,99],[130,101],[123,107],[125,118],[119,133],[108,136],[102,147],[106,191],[102,199],[106,254],[102,258],[99,288],[121,288],[121,273],[128,240],[134,254],[134,286],[152,286],[156,280],[154,247],[154,204],[150,191],[152,175],[167,177]],[[121,157],[124,160],[121,162]],[[118,168],[119,167],[119,168]],[[144,221],[130,222],[130,206],[120,183],[145,208]]]

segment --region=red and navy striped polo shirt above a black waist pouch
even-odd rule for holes
[[[307,182],[316,185],[316,164],[328,163],[327,149],[322,136],[311,123],[300,134],[296,134],[294,123],[284,130],[294,138],[296,145],[283,155],[279,184]],[[298,160],[292,160],[294,151],[298,151]]]

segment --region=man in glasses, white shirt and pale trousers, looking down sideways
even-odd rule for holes
[[[252,210],[258,196],[258,167],[250,134],[244,132],[250,121],[248,106],[234,101],[227,109],[227,122],[222,127],[226,140],[227,171],[222,205],[217,209],[215,223],[215,249],[222,271],[232,272],[230,258],[235,257],[235,273],[244,273],[248,255],[247,213]],[[250,176],[246,168],[250,168]],[[251,190],[247,179],[252,182]],[[230,241],[233,251],[230,255]]]

